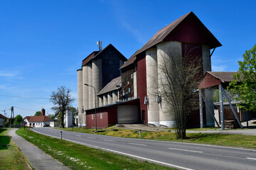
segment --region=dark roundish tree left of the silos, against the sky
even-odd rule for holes
[[[70,95],[70,89],[65,86],[58,87],[57,91],[53,91],[50,95],[50,101],[53,102],[52,110],[60,113],[60,125],[64,128],[64,114],[71,107],[71,103],[75,100]]]

